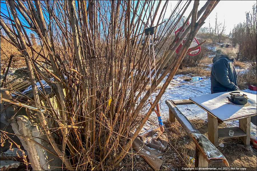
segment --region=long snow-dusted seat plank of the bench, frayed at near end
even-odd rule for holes
[[[186,133],[188,133],[188,135],[193,139],[196,148],[200,151],[200,154],[197,154],[198,161],[200,161],[198,165],[206,166],[206,163],[202,161],[202,158],[204,158],[209,163],[223,161],[224,164],[229,166],[228,161],[223,154],[210,142],[210,140],[208,140],[207,137],[202,135],[200,131],[192,125],[192,123],[181,113],[172,101],[166,100],[165,103],[168,105],[169,109],[175,115]]]

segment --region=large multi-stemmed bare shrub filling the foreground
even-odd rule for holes
[[[148,41],[142,45],[136,42],[143,39],[142,28],[154,27],[155,21],[162,23],[157,14],[158,11],[165,11],[167,1],[163,7],[160,6],[161,1],[6,2],[13,17],[1,12],[0,24],[7,34],[1,34],[1,37],[17,47],[26,59],[34,95],[27,103],[42,109],[39,94],[43,95],[47,106],[50,106],[45,108],[47,117],[61,128],[55,131],[61,137],[60,144],[57,144],[49,132],[44,114],[35,113],[55,153],[69,170],[89,167],[105,170],[117,165],[127,154],[178,70],[197,31],[219,1],[207,1],[200,10],[199,1],[194,1],[193,9],[181,29],[191,19],[190,25],[183,33],[178,32],[176,37],[171,35],[178,28],[180,17],[191,1],[185,3],[181,15],[171,13],[166,21],[173,21],[170,29],[155,31],[155,42],[150,49],[156,46],[160,47],[157,54],[162,49],[165,52],[156,62],[157,83],[153,82],[145,94],[143,91],[154,75],[153,60],[150,60],[154,52],[149,58]],[[179,3],[174,10],[178,9]],[[8,20],[13,28],[8,27],[3,19]],[[42,42],[40,50],[33,48],[25,28],[33,31]],[[178,54],[160,74],[189,31]],[[145,40],[148,37],[145,36]],[[164,46],[167,42],[171,42],[168,47]],[[41,63],[51,65],[52,71]],[[168,73],[162,89],[138,125],[142,107]],[[39,93],[35,83],[35,77],[40,80],[39,76],[53,89],[57,110],[51,108],[53,104],[42,84],[43,92]],[[110,82],[102,84],[106,80]],[[130,137],[129,133],[135,127],[136,131]]]

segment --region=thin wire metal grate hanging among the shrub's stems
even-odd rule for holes
[[[81,66],[87,88],[111,86],[110,60],[107,60],[107,56],[82,59]]]

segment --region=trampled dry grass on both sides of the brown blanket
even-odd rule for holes
[[[192,156],[188,144],[190,138],[178,121],[170,123],[165,121],[167,139],[169,140],[168,150],[162,155],[162,165],[160,170],[181,170],[182,167],[194,167],[186,156]],[[201,123],[199,123],[201,124]],[[132,154],[133,153],[133,154]],[[131,149],[120,162],[116,170],[153,170],[151,166]]]

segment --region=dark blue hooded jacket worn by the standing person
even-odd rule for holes
[[[233,57],[220,53],[212,59],[211,93],[239,90],[233,61]]]

